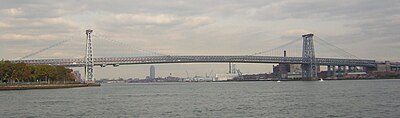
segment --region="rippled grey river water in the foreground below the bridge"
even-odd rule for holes
[[[0,91],[0,117],[400,117],[400,80],[103,84]]]

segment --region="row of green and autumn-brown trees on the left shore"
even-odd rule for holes
[[[30,65],[0,61],[0,83],[74,81],[71,69],[64,66]]]

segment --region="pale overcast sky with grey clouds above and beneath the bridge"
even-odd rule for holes
[[[82,58],[84,30],[93,29],[95,56],[143,55],[135,49],[247,55],[314,33],[359,58],[400,61],[399,6],[398,0],[2,0],[0,58],[16,59],[62,40],[70,41],[31,58]],[[156,66],[159,76],[225,73],[226,67]],[[148,68],[96,68],[95,76],[144,77]],[[268,64],[238,68],[271,71]]]

